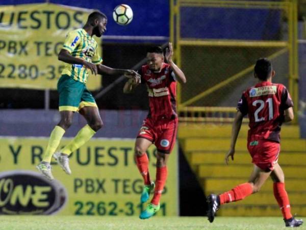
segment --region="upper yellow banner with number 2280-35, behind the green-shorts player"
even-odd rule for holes
[[[0,6],[0,87],[56,89],[58,60],[69,31],[82,28],[90,10],[55,4]],[[95,37],[101,53],[101,40]],[[87,87],[100,88],[90,73]]]

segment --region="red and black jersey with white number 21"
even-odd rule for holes
[[[260,82],[243,92],[237,109],[248,114],[248,136],[258,134],[262,139],[279,142],[284,111],[293,106],[287,88],[282,84]]]

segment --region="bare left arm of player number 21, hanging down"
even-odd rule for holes
[[[241,128],[242,120],[243,120],[243,114],[240,111],[238,111],[236,113],[236,117],[234,119],[233,127],[232,127],[231,147],[230,147],[230,150],[228,150],[228,152],[225,155],[226,165],[228,164],[228,161],[230,160],[229,159],[230,156],[232,160],[234,160],[235,146],[236,146],[237,137],[238,137],[238,134]]]

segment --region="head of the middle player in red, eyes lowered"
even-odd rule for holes
[[[164,63],[164,52],[161,47],[150,47],[147,50],[147,64],[151,71],[159,71]]]

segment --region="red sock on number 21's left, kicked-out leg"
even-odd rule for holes
[[[250,183],[242,183],[236,188],[220,195],[220,204],[242,200],[253,193]]]

